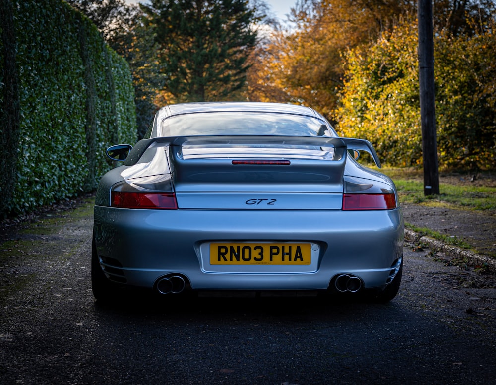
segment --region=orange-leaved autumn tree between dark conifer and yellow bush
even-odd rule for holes
[[[414,4],[383,0],[299,0],[291,11],[292,28],[273,35],[263,58],[270,97],[280,86],[285,101],[315,107],[332,118],[337,90],[342,85],[342,53],[350,47],[369,43],[390,28],[401,15],[415,10]],[[268,76],[268,77],[267,77]],[[259,98],[257,94],[248,97]]]

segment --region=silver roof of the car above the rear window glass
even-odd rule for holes
[[[192,114],[199,112],[273,112],[308,115],[320,118],[315,110],[310,107],[284,103],[261,102],[198,102],[171,104],[160,109],[159,115],[163,118],[172,115]]]

